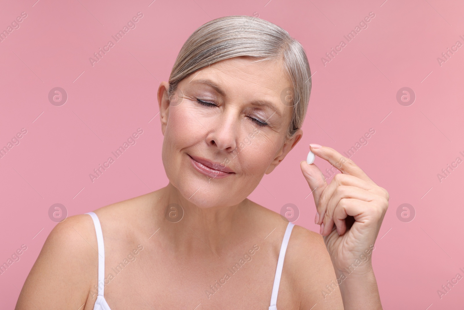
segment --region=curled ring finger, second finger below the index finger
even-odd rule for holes
[[[370,202],[375,199],[375,195],[369,191],[363,190],[359,187],[340,185],[336,188],[334,194],[327,204],[327,210],[325,212],[322,223],[324,224],[322,228],[321,235],[324,236],[324,233],[330,233],[334,225],[334,212],[337,205],[340,203],[342,198],[354,198],[365,202]],[[322,227],[322,224],[321,224]]]

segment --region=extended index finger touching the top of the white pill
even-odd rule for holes
[[[310,146],[310,150],[316,156],[319,156],[320,158],[327,160],[340,172],[361,178],[366,182],[375,184],[375,182],[371,178],[369,178],[366,172],[364,172],[358,165],[356,165],[353,160],[344,157],[342,154],[335,151],[333,148],[329,146],[321,146],[319,148],[314,148]]]

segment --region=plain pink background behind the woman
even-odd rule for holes
[[[351,2],[351,1],[350,1]],[[437,290],[464,269],[464,163],[440,181],[437,174],[464,159],[464,47],[440,66],[437,58],[464,43],[459,1],[3,1],[0,30],[27,17],[0,43],[0,147],[27,133],[0,158],[0,263],[27,245],[0,275],[2,309],[19,290],[56,225],[48,217],[61,203],[69,216],[159,189],[168,183],[161,162],[163,136],[156,91],[168,80],[187,37],[209,20],[250,15],[269,20],[299,40],[308,55],[313,89],[303,139],[250,199],[279,212],[287,203],[295,222],[313,231],[315,206],[299,162],[309,143],[347,151],[374,128],[352,157],[391,195],[375,244],[373,264],[385,309],[457,309],[464,280],[440,299]],[[143,18],[104,57],[89,58],[137,12]],[[374,19],[324,66],[321,58],[374,12]],[[114,41],[114,40],[113,40]],[[345,40],[346,42],[346,40]],[[48,93],[62,87],[63,106]],[[410,87],[415,102],[396,93]],[[121,158],[90,182],[137,128],[143,134]],[[316,158],[322,171],[329,164]],[[272,194],[271,194],[272,193]],[[307,197],[307,198],[306,198]],[[400,204],[416,211],[408,223]],[[381,238],[381,239],[380,239]],[[429,307],[429,308],[427,308]]]

